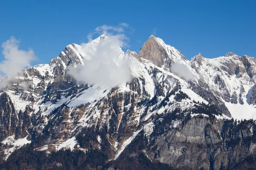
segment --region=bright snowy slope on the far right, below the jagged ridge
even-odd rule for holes
[[[207,59],[198,54],[190,60],[190,65],[221,96],[234,119],[256,119],[256,109],[248,103],[255,83],[241,57],[229,52],[223,57]]]

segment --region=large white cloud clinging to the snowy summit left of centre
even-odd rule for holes
[[[93,46],[81,44],[84,49],[87,49],[85,50],[84,65],[69,68],[68,73],[79,82],[109,87],[130,81],[129,65],[131,60],[129,56],[124,55],[121,49],[127,45],[129,40],[125,34],[121,34],[125,28],[128,28],[128,24],[97,27],[92,34],[87,36],[89,43],[94,34],[105,34],[106,36],[103,36]]]

